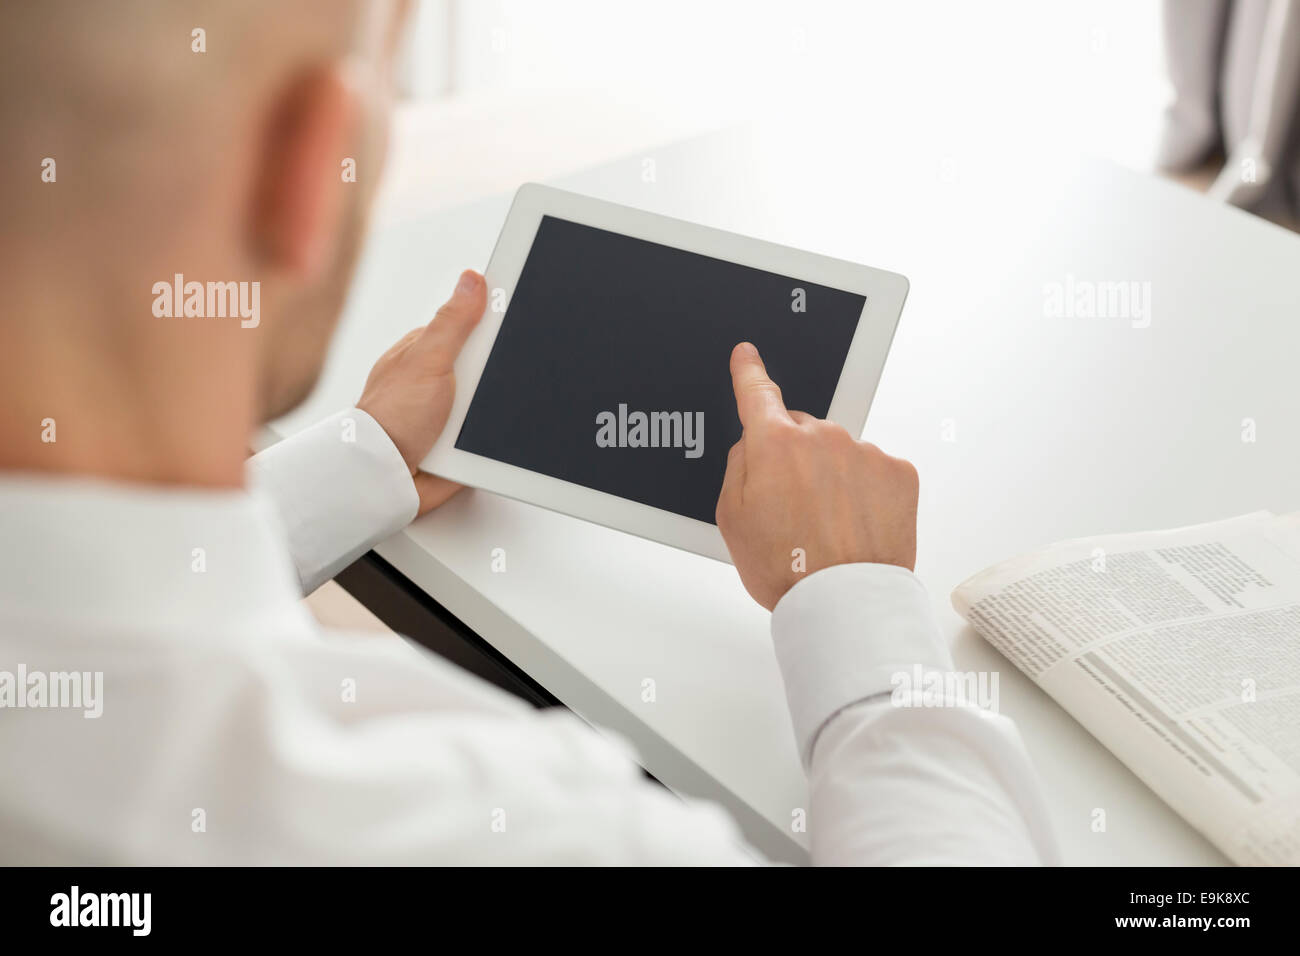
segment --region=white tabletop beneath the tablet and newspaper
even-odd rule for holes
[[[911,278],[866,436],[920,470],[916,570],[958,667],[1000,671],[1001,709],[1041,773],[1067,862],[1221,864],[948,594],[1065,537],[1300,507],[1300,239],[1100,163],[979,161],[918,143],[888,153],[867,163],[862,143],[783,126],[555,185]],[[486,265],[507,206],[374,234],[321,388],[273,431],[354,402],[373,359],[433,313],[455,274]],[[1045,317],[1044,285],[1067,273],[1150,282],[1150,326]],[[1254,444],[1240,440],[1244,418]],[[377,550],[576,713],[630,737],[667,786],[722,801],[770,856],[805,858],[790,818],[806,787],[767,614],[729,566],[481,492]]]

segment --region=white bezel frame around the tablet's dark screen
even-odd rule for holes
[[[484,458],[455,446],[493,342],[508,313],[510,297],[523,272],[542,216],[555,216],[688,252],[724,259],[738,265],[790,276],[796,281],[803,280],[864,295],[866,306],[858,316],[858,325],[827,414],[828,419],[840,423],[854,436],[859,436],[866,424],[885,355],[889,352],[889,343],[893,341],[894,328],[907,297],[907,280],[867,265],[750,239],[550,186],[525,183],[515,194],[497,247],[493,250],[491,261],[484,273],[488,280],[488,310],[456,359],[456,397],[451,415],[438,442],[421,462],[421,467],[464,485],[541,505],[552,511],[719,561],[731,561],[722,533],[714,524]],[[500,311],[494,311],[494,306]],[[521,401],[526,402],[526,397],[521,397]]]

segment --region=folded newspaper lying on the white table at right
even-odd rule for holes
[[[1066,541],[953,606],[1231,860],[1300,864],[1300,516]]]

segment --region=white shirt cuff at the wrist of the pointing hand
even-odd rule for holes
[[[798,581],[772,609],[772,643],[805,767],[841,710],[889,693],[918,665],[952,669],[926,588],[893,564],[837,564]]]

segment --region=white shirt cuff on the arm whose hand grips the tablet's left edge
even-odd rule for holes
[[[285,524],[304,594],[402,531],[420,509],[402,454],[360,408],[272,445],[248,466]]]

